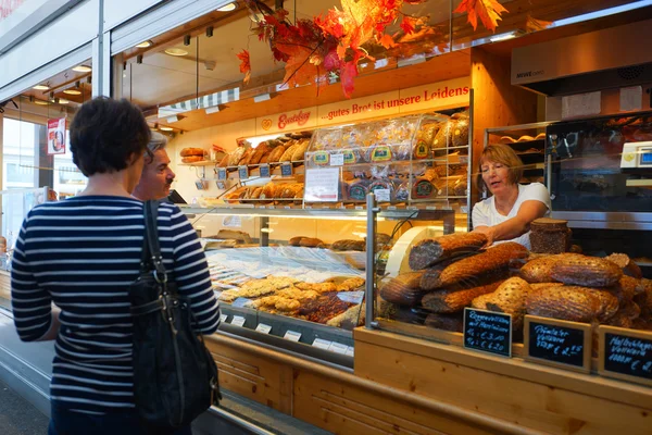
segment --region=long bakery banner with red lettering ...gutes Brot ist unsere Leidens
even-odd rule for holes
[[[396,116],[402,113],[459,108],[468,105],[469,98],[469,77],[452,78],[430,85],[258,117],[255,134],[269,135],[347,124],[373,117]]]

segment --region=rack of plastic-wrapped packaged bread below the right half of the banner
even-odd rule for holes
[[[305,153],[306,185],[335,169],[339,186],[328,198],[306,190],[305,202],[364,204],[374,192],[381,206],[467,210],[469,124],[460,109],[319,128]]]

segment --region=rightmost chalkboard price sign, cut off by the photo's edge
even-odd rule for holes
[[[600,374],[652,385],[652,333],[600,326]]]

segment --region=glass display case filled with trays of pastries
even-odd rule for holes
[[[393,263],[397,241],[413,226],[454,231],[451,210],[381,210],[373,225],[366,210],[183,210],[202,236],[222,332],[349,368],[366,283]]]

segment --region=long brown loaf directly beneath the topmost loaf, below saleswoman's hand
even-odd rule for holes
[[[523,245],[507,241],[478,253],[456,261],[441,272],[429,270],[422,277],[421,286],[424,289],[451,287],[468,279],[477,279],[479,276],[500,273],[509,268],[513,259],[527,256],[527,249]]]

